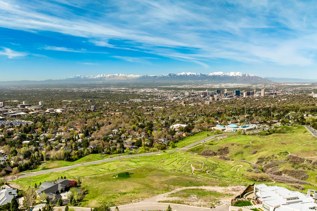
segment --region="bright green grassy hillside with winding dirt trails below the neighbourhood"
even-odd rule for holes
[[[293,171],[304,170],[308,175],[305,189],[316,189],[317,167],[313,167],[317,138],[313,137],[304,127],[281,127],[283,133],[272,135],[233,135],[223,140],[212,140],[206,144],[194,147],[188,152],[158,152],[155,155],[122,158],[101,164],[79,166],[63,172],[53,172],[31,178],[21,178],[13,183],[22,189],[34,186],[44,181],[52,181],[61,176],[74,179],[80,176],[87,189],[87,196],[80,206],[93,207],[99,204],[121,205],[169,192],[176,187],[196,186],[248,186],[254,183],[246,178],[253,171],[254,164],[258,167],[270,164],[272,160],[279,161],[276,170]],[[198,139],[198,134],[196,135]],[[207,133],[199,133],[199,139],[207,137]],[[191,139],[190,139],[191,138]],[[183,140],[186,145],[195,142],[195,136]],[[182,143],[182,142],[180,142]],[[180,144],[179,143],[179,144]],[[212,151],[214,155],[203,156],[202,152]],[[305,162],[293,164],[289,156],[300,155]],[[85,158],[78,162],[89,162],[89,159],[104,159],[104,157]],[[227,159],[227,160],[226,160]],[[310,161],[309,161],[310,160]],[[63,162],[59,162],[63,165]],[[52,166],[50,166],[52,167]],[[49,166],[48,166],[49,168]],[[128,174],[120,174],[125,173]],[[261,172],[261,171],[260,171]],[[296,172],[295,172],[296,173]],[[119,175],[117,177],[117,175]],[[296,177],[297,175],[291,175]],[[289,183],[280,183],[272,179],[264,182],[268,185],[278,185],[291,190]],[[305,192],[302,190],[301,192]],[[188,198],[195,195],[199,200],[217,202],[217,198],[224,197],[220,193],[204,190],[182,190],[173,193],[178,202],[186,203]],[[174,197],[170,196],[170,197]]]

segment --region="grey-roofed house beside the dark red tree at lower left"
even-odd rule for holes
[[[70,180],[58,179],[56,182],[44,182],[40,185],[40,188],[36,190],[36,195],[42,197],[42,194],[49,198],[49,200],[55,200],[61,198],[62,192],[67,188],[70,188]]]

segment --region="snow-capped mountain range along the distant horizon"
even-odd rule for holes
[[[258,77],[256,75],[244,74],[241,72],[213,72],[210,74],[182,72],[182,73],[169,73],[166,75],[126,75],[126,74],[100,74],[100,75],[76,75],[69,78],[63,78],[66,81],[109,81],[109,80],[136,80],[136,81],[210,81],[210,82],[269,82],[268,79]]]

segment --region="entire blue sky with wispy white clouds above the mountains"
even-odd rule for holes
[[[315,1],[0,0],[0,81],[239,71],[317,79]]]

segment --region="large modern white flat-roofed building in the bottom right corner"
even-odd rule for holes
[[[262,204],[261,209],[266,211],[317,210],[313,197],[279,186],[254,185],[254,195],[256,202]]]

